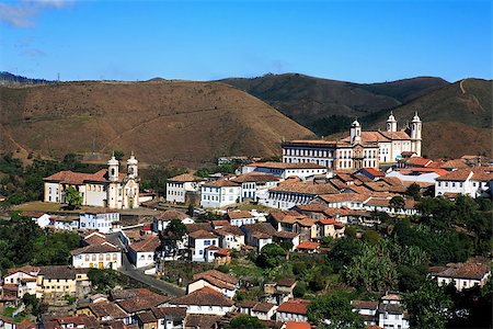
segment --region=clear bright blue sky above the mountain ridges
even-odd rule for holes
[[[492,78],[492,2],[0,0],[0,70],[61,80]]]

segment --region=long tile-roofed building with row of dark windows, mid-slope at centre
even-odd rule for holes
[[[333,193],[337,193],[337,190],[331,184],[286,181],[268,190],[268,197],[264,205],[289,209],[299,204],[308,204],[319,195]]]

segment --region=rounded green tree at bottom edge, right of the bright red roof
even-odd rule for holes
[[[342,294],[317,296],[308,306],[308,319],[317,324],[317,328],[365,328],[360,316],[353,311],[349,298]]]

